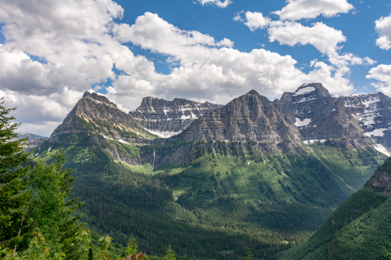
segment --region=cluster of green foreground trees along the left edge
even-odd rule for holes
[[[10,248],[12,254],[27,250],[32,242],[43,245],[37,242],[43,241],[41,233],[34,233],[36,228],[40,228],[47,238],[42,256],[66,252],[78,258],[80,243],[77,242],[76,234],[82,228],[82,224],[77,223],[81,215],[75,217],[72,214],[83,203],[77,202],[79,198],[68,200],[72,189],[70,185],[75,178],[71,177],[69,169],[63,169],[64,153],[59,149],[50,155],[52,162],[49,164],[28,160],[32,153],[23,152],[23,140],[13,139],[17,136],[14,131],[19,126],[18,123],[12,123],[13,117],[8,117],[13,109],[7,109],[2,104],[0,243]],[[31,255],[31,252],[27,253]],[[39,258],[38,255],[34,257]]]

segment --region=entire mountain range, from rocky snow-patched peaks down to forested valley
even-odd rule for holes
[[[118,243],[134,234],[151,255],[172,244],[181,256],[276,259],[389,156],[389,104],[380,92],[338,97],[304,83],[280,100],[255,90],[223,106],[146,97],[125,113],[86,92],[27,150],[47,161],[65,150],[82,221]]]

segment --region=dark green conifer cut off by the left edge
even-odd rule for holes
[[[3,100],[1,98],[0,100]],[[0,242],[10,247],[27,245],[24,234],[31,227],[26,219],[29,192],[26,175],[29,166],[21,166],[32,153],[23,152],[26,139],[15,140],[15,130],[21,125],[13,123],[9,113],[16,108],[5,108],[0,102]]]

